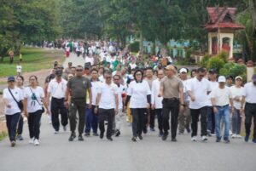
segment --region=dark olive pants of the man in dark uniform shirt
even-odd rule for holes
[[[70,123],[70,130],[72,133],[75,133],[76,126],[77,126],[77,111],[79,111],[79,134],[83,134],[84,132],[84,121],[85,121],[85,98],[84,99],[76,99],[71,100],[69,106],[69,123]]]

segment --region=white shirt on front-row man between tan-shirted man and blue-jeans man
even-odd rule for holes
[[[211,85],[206,78],[202,78],[201,82],[196,77],[190,79],[187,88],[195,96],[195,101],[189,102],[190,109],[207,106],[207,92],[211,91]]]

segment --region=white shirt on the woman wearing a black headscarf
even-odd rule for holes
[[[127,95],[131,96],[130,108],[146,108],[148,101],[147,95],[150,95],[151,91],[148,82],[143,80],[142,83],[132,81],[127,89]]]

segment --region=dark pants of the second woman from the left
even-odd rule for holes
[[[27,117],[28,130],[30,138],[35,138],[39,140],[40,134],[40,121],[42,117],[42,110],[29,113]]]

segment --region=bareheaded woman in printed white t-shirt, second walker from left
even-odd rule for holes
[[[44,112],[44,107],[49,113],[48,106],[44,99],[44,89],[38,86],[38,77],[29,77],[30,87],[25,88],[24,113],[27,117],[30,144],[39,145],[40,120]],[[42,101],[44,106],[42,105]]]

